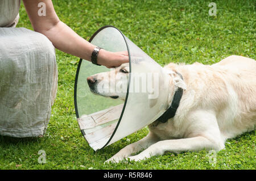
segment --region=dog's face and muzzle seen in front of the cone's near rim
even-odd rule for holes
[[[129,80],[129,63],[87,78],[90,91],[113,99],[125,100]]]

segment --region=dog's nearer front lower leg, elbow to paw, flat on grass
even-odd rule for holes
[[[145,158],[150,158],[154,155],[162,155],[166,151],[180,153],[181,151],[199,151],[202,149],[220,150],[218,145],[214,144],[207,138],[203,136],[197,136],[179,140],[159,141],[156,142],[156,144],[151,145],[148,149],[142,151],[142,153],[128,158],[130,158],[130,160],[140,161]]]

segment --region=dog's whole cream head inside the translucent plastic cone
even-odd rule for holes
[[[144,102],[145,105],[148,102],[150,108],[156,105],[159,96],[169,93],[170,73],[165,73],[160,66],[143,61],[133,64],[133,70],[135,73],[130,74],[129,63],[126,63],[110,71],[91,75],[87,78],[90,91],[96,95],[125,100],[131,77],[129,94],[133,94],[134,101]],[[175,79],[177,82],[180,81]]]

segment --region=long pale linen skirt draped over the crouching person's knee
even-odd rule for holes
[[[43,135],[56,90],[51,41],[26,28],[0,28],[0,134]]]

